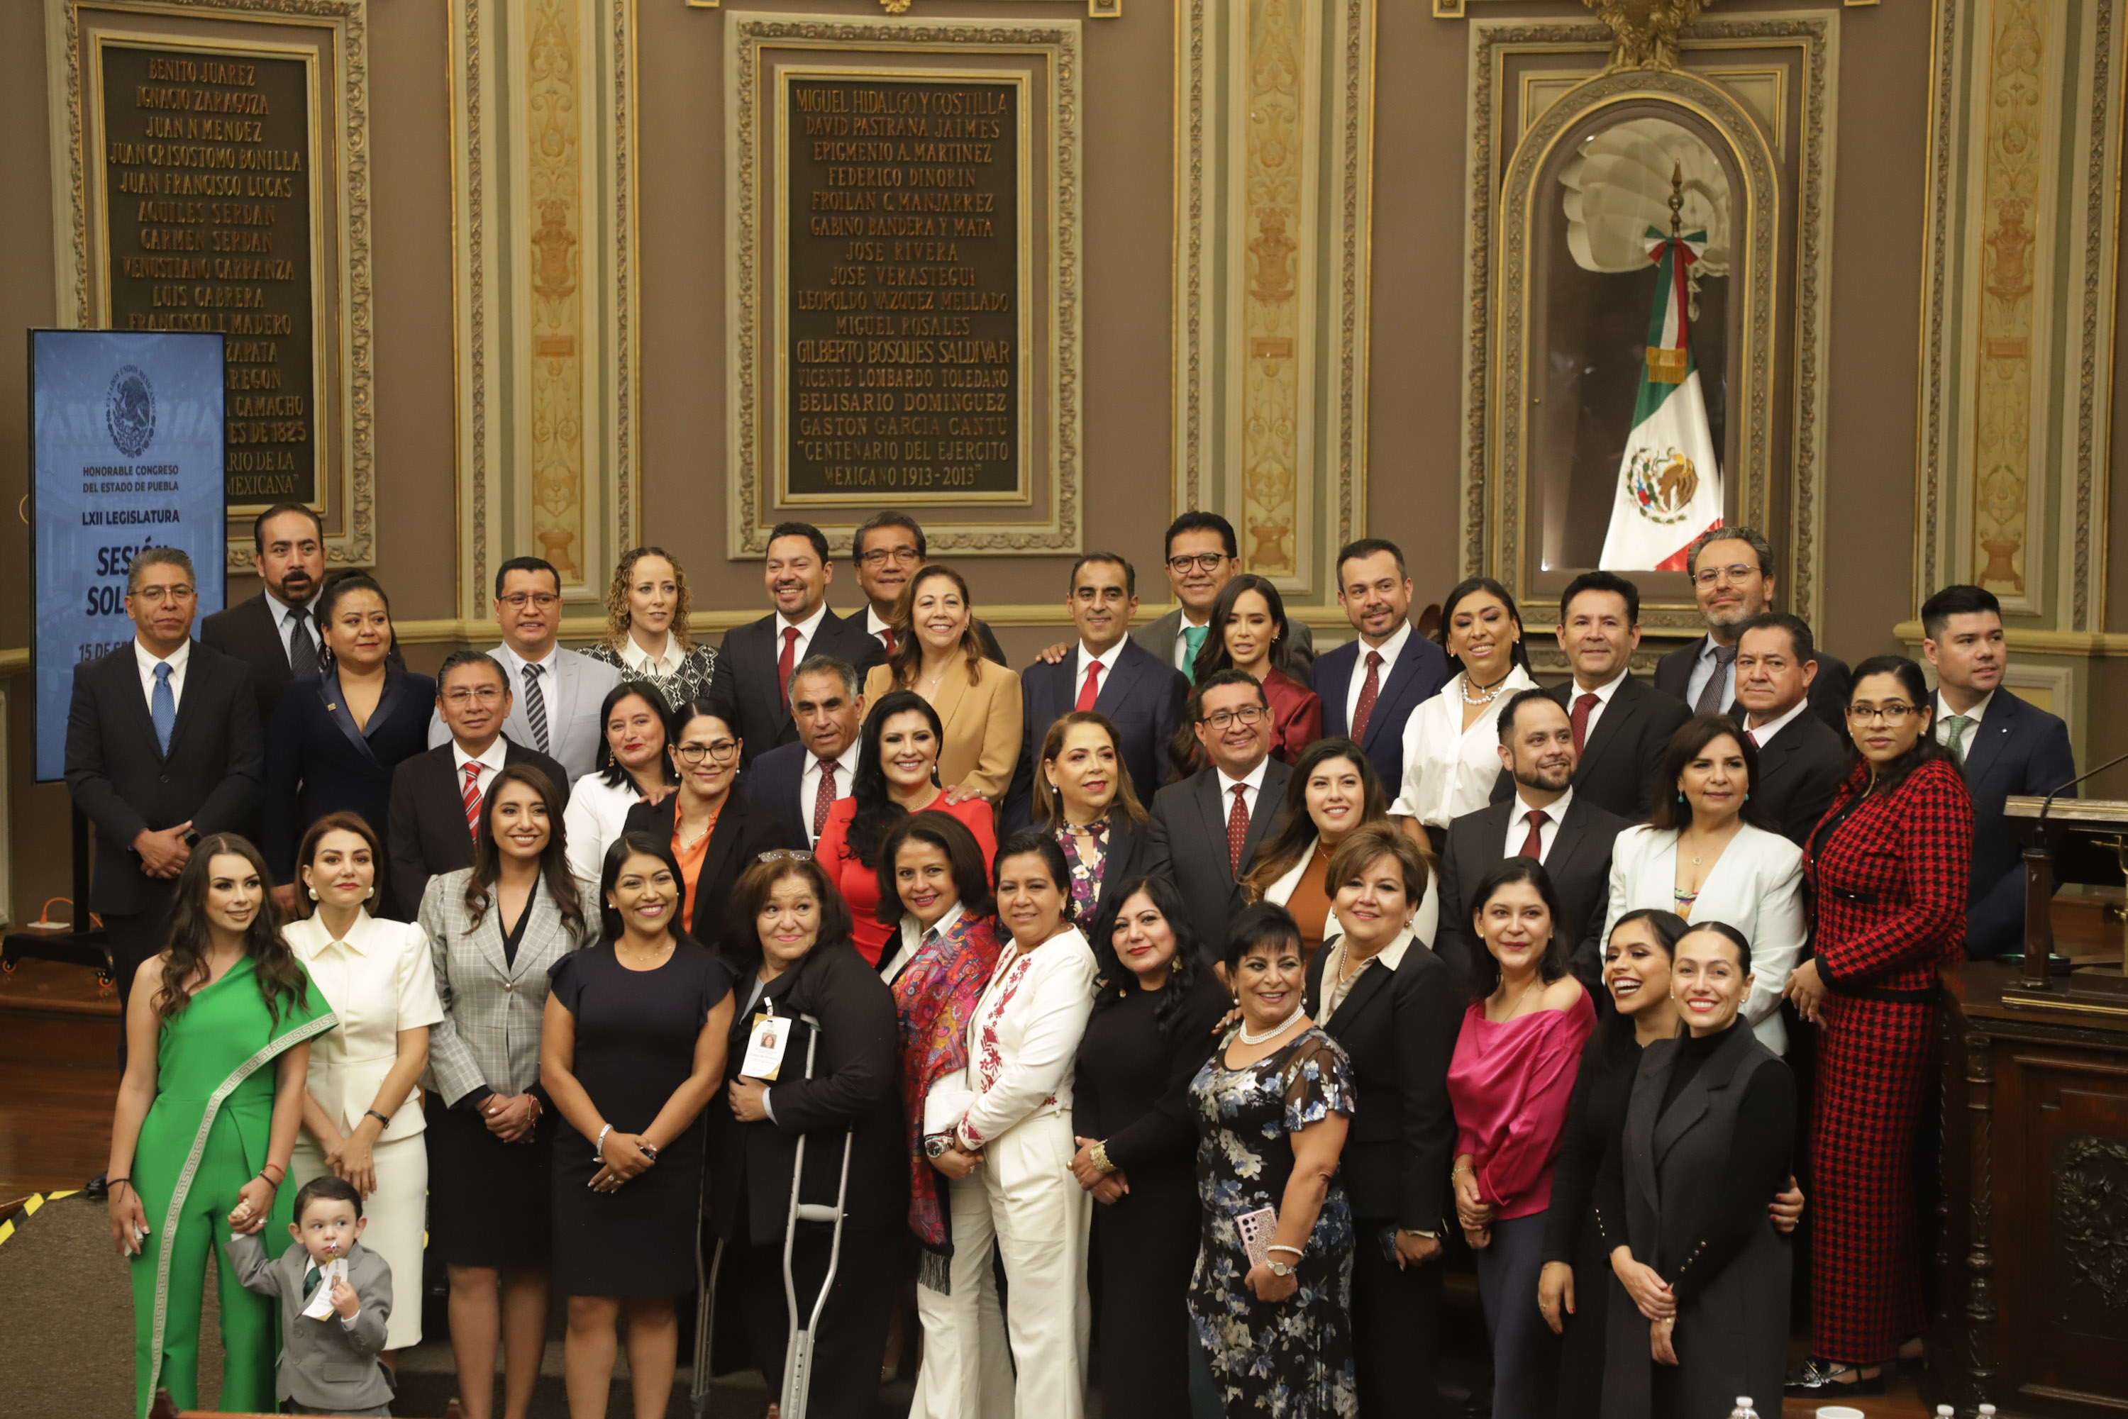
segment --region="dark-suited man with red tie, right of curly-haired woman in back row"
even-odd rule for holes
[[[724,634],[711,694],[738,706],[741,768],[777,745],[798,742],[789,708],[792,672],[813,655],[834,655],[864,672],[885,660],[885,649],[864,632],[864,617],[828,608],[834,562],[828,538],[813,523],[777,523],[768,534],[762,581],[775,611]]]

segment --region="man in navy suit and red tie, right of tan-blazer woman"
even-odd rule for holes
[[[1004,830],[1034,821],[1034,774],[1043,738],[1064,715],[1092,708],[1121,736],[1124,768],[1138,802],[1151,802],[1168,777],[1168,740],[1181,723],[1190,681],[1130,638],[1138,572],[1113,551],[1090,551],[1070,568],[1064,602],[1079,645],[1064,660],[1036,660],[1019,672],[1021,740],[1004,794]]]

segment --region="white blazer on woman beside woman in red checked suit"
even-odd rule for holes
[[[1617,834],[1602,940],[1611,940],[1619,917],[1643,906],[1677,911],[1675,828],[1641,823]],[[1788,1053],[1781,991],[1802,955],[1809,928],[1802,915],[1802,851],[1777,832],[1743,823],[1722,849],[1685,919],[1726,921],[1751,942],[1751,998],[1743,1002],[1743,1017],[1751,1021],[1760,1045],[1777,1055]]]

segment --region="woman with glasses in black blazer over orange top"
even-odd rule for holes
[[[715,700],[679,711],[679,732],[668,751],[679,770],[679,791],[628,811],[624,832],[641,832],[672,849],[681,872],[679,925],[694,940],[717,949],[724,904],[738,874],[783,842],[775,817],[732,791],[738,779],[738,715]]]

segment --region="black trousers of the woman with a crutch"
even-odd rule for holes
[[[798,1283],[798,1321],[813,1313],[828,1274],[830,1232],[798,1223],[792,1276]],[[813,1332],[813,1385],[807,1413],[819,1419],[872,1419],[879,1408],[879,1366],[887,1357],[887,1321],[900,1283],[900,1234],[894,1228],[843,1228],[843,1255],[834,1291]],[[717,1304],[734,1306],[747,1349],[768,1393],[783,1389],[789,1351],[789,1313],[783,1304],[783,1242],[730,1242],[717,1283]],[[721,1328],[721,1319],[719,1319]]]

